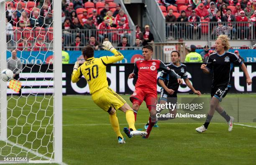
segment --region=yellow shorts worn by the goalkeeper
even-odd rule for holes
[[[126,103],[125,100],[115,93],[115,91],[113,91],[110,87],[102,88],[93,93],[92,100],[97,106],[107,112],[111,110],[111,107],[118,110]]]

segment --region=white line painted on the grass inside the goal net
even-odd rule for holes
[[[29,161],[29,162],[33,162],[33,163],[37,163],[37,162],[38,162],[38,163],[53,163],[53,162],[54,162],[54,159],[51,159],[51,157],[44,156],[44,155],[40,154],[39,152],[33,151],[33,150],[31,150],[31,149],[29,149],[29,148],[27,148],[27,147],[24,147],[24,146],[22,146],[22,145],[19,145],[19,144],[17,144],[17,143],[14,143],[14,142],[12,142],[12,141],[10,141],[10,140],[6,140],[6,142],[7,142],[8,144],[10,144],[10,145],[13,145],[13,146],[15,146],[15,147],[21,148],[21,149],[23,149],[23,150],[25,150],[25,151],[27,151],[27,152],[30,152],[30,153],[33,154],[33,155],[36,155],[36,156],[39,156],[39,157],[42,157],[42,158],[48,160],[48,161]],[[60,165],[67,165],[67,164],[64,163],[64,162],[62,162],[62,163],[60,163]]]

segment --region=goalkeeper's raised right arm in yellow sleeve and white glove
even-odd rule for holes
[[[106,51],[110,51],[114,54],[114,56],[104,56],[100,58],[104,65],[123,60],[123,54],[117,51],[109,41],[104,41],[102,43],[102,46],[103,49],[105,49]]]

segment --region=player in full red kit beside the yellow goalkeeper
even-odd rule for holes
[[[147,128],[148,135],[144,138],[148,138],[152,127],[156,122],[156,100],[157,100],[157,74],[158,71],[166,71],[174,79],[177,79],[179,84],[182,84],[182,79],[179,75],[177,75],[174,70],[169,69],[161,60],[152,59],[153,55],[153,48],[150,45],[146,45],[142,49],[142,54],[144,59],[137,60],[134,64],[133,73],[129,75],[129,79],[138,76],[138,80],[135,84],[135,91],[130,97],[131,102],[133,103],[133,112],[136,116],[139,107],[143,100],[146,102],[147,108],[149,110],[149,125]],[[125,134],[129,136],[129,129],[124,128]]]

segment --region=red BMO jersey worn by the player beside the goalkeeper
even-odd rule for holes
[[[158,70],[167,71],[167,73],[180,79],[173,70],[169,69],[161,60],[137,60],[134,64],[133,73],[138,76],[135,88],[138,86],[146,87],[148,90],[156,92]]]

